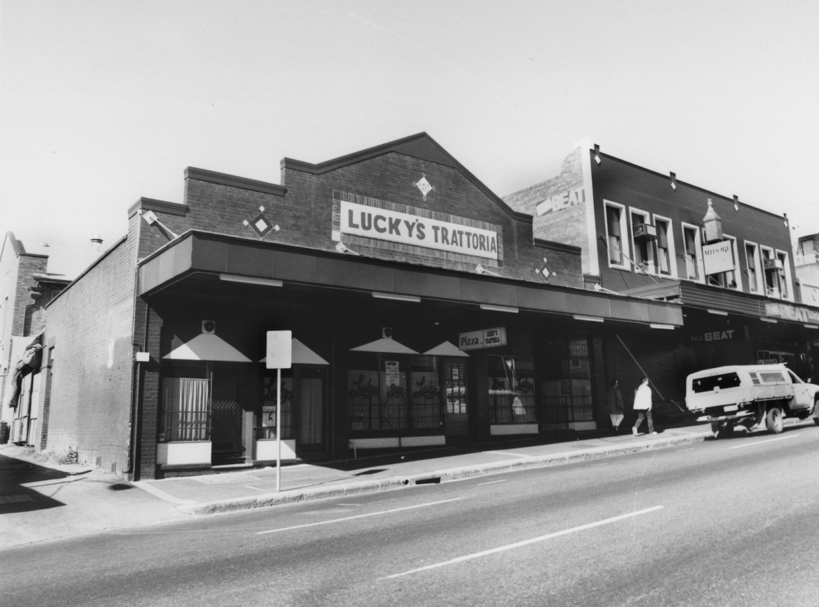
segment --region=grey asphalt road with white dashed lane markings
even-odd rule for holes
[[[0,552],[5,605],[817,605],[819,429]]]

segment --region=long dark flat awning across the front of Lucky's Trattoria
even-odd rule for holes
[[[578,281],[580,282],[580,281]],[[280,289],[280,291],[279,291]],[[266,300],[296,293],[373,297],[394,293],[395,306],[558,315],[642,328],[682,327],[679,303],[612,296],[590,289],[505,279],[317,251],[276,242],[191,231],[139,263],[138,294],[152,297],[245,297]],[[388,305],[383,298],[379,306]],[[487,322],[490,322],[487,320]],[[602,326],[601,326],[602,328]]]

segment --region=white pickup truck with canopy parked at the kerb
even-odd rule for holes
[[[785,365],[717,367],[688,376],[686,407],[710,421],[715,436],[763,423],[768,432],[781,433],[785,416],[812,417],[819,424],[819,386]]]

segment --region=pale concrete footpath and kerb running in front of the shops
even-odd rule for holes
[[[509,473],[704,441],[710,426],[668,428],[657,435],[594,433],[570,442],[545,437],[447,446],[428,451],[277,471],[224,468],[201,476],[128,482],[80,464],[43,461],[20,446],[0,446],[0,550],[88,532],[129,528],[191,516],[292,504]]]

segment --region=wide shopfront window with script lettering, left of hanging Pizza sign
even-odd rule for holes
[[[441,428],[444,395],[437,357],[372,354],[354,356],[353,362],[347,372],[351,430]],[[464,396],[465,410],[465,388],[451,394],[448,388],[446,396],[458,407]]]

